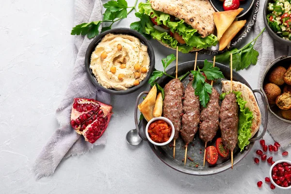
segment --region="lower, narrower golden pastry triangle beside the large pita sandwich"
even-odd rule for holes
[[[226,32],[224,32],[219,40],[219,50],[223,50],[226,48],[226,46],[230,43],[233,37],[238,32],[240,32],[245,23],[246,20],[232,22],[232,24],[229,26],[229,28],[227,28]]]

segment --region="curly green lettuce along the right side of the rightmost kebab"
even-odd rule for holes
[[[252,137],[252,120],[254,118],[253,113],[249,110],[249,108],[245,107],[246,101],[242,98],[242,92],[233,91],[233,93],[237,97],[237,103],[239,105],[239,127],[238,127],[238,146],[243,148],[249,145],[249,139]],[[224,99],[226,93],[222,93],[220,95],[220,99]]]

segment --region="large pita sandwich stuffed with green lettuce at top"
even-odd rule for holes
[[[213,34],[215,12],[209,0],[148,0],[138,6],[140,21],[130,28],[165,47],[183,53],[207,49],[218,43]]]

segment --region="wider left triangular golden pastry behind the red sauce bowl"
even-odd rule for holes
[[[156,104],[157,86],[154,85],[142,103],[138,105],[138,109],[144,115],[146,121],[154,118],[153,112]]]

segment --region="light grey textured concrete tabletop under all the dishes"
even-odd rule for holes
[[[133,4],[133,0],[128,0]],[[1,194],[69,193],[272,193],[269,164],[254,164],[256,148],[231,171],[206,177],[188,176],[164,165],[147,143],[129,146],[126,133],[134,128],[133,102],[141,90],[112,99],[113,112],[106,146],[61,162],[53,176],[36,180],[35,157],[58,127],[55,109],[61,101],[73,68],[73,0],[6,0],[0,6],[0,188]],[[114,27],[129,27],[133,13]],[[151,41],[156,67],[169,53]],[[199,56],[205,59],[206,56]],[[179,63],[194,55],[180,54]],[[173,64],[174,65],[174,64]],[[241,71],[257,87],[260,65]],[[266,143],[273,144],[266,134]],[[291,153],[291,149],[288,151]],[[273,154],[281,159],[281,150]],[[287,157],[291,160],[291,156]],[[290,191],[276,189],[274,193]]]

